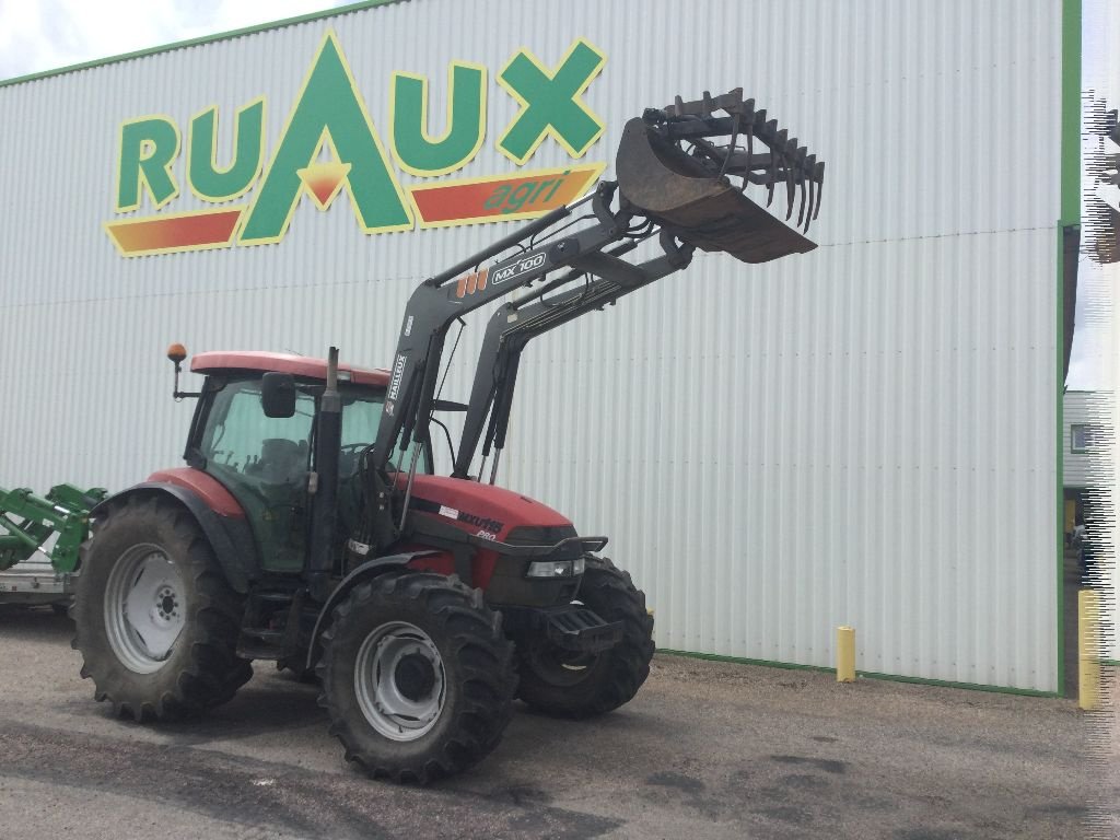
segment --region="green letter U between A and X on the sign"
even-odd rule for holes
[[[393,153],[412,175],[445,175],[466,165],[483,144],[486,123],[486,68],[454,62],[447,74],[450,93],[447,129],[439,139],[428,133],[428,80],[393,74],[390,109]]]

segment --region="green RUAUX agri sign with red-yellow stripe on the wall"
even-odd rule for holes
[[[523,167],[551,137],[573,160],[584,157],[604,124],[582,93],[605,62],[582,38],[552,68],[528,49],[514,53],[496,80],[519,109],[494,141],[497,150]],[[304,195],[326,211],[344,187],[365,233],[530,218],[571,202],[599,177],[604,164],[446,178],[467,166],[486,139],[487,88],[486,67],[452,60],[446,128],[437,137],[428,130],[428,78],[393,73],[386,151],[342,45],[328,31],[269,159],[264,96],[233,114],[232,150],[217,148],[217,106],[190,119],[185,142],[180,125],[166,115],[122,123],[116,213],[142,206],[156,212],[120,216],[106,222],[105,231],[125,256],[276,243],[288,233]],[[398,170],[438,180],[402,188]],[[221,206],[165,212],[184,185],[202,202]]]

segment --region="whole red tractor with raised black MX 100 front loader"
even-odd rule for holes
[[[635,696],[653,619],[600,556],[607,538],[495,485],[521,353],[698,248],[750,263],[812,250],[746,190],[784,194],[808,231],[823,164],[736,90],[631,120],[616,172],[422,282],[389,370],[334,348],[203,353],[188,394],[172,346],[175,395],[197,399],[187,466],[95,507],[82,550],[74,644],[99,700],[137,720],[190,716],[232,698],[252,660],[276,661],[318,676],[347,759],[427,783],[489,754],[515,698],[584,718]],[[449,329],[515,290],[469,403],[442,399]],[[432,430],[456,411],[439,476]]]

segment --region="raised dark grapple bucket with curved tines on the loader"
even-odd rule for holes
[[[716,110],[728,115],[716,116]],[[725,146],[710,142],[727,136]],[[690,103],[678,99],[626,123],[615,161],[618,189],[638,214],[704,251],[726,251],[749,263],[805,253],[816,244],[745,195],[756,185],[773,200],[775,188],[784,186],[790,218],[800,190],[797,224],[808,231],[819,209],[824,165],[796,143],[766,121],[765,111],[756,112],[753,101],[743,102],[739,88]]]

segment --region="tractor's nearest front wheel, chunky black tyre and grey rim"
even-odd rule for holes
[[[317,671],[346,759],[418,784],[497,746],[517,680],[513,644],[482,591],[430,572],[356,586],[323,634]]]

